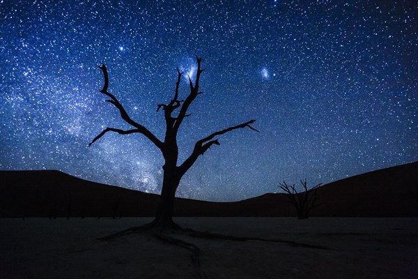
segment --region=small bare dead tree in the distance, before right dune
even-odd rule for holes
[[[308,189],[307,187],[307,180],[300,181],[302,183],[304,191],[301,193],[297,193],[295,184],[288,185],[285,181],[280,183],[279,187],[281,190],[286,192],[286,197],[290,200],[290,202],[295,206],[297,211],[297,218],[298,219],[307,219],[309,217],[309,212],[316,206],[320,204],[316,204],[316,190],[322,185],[319,183],[317,186]]]

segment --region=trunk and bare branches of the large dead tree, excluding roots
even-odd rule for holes
[[[198,140],[196,144],[194,144],[194,149],[190,156],[181,164],[178,163],[178,144],[177,144],[177,135],[178,130],[183,123],[185,117],[190,116],[187,113],[189,106],[193,103],[201,91],[199,91],[199,82],[201,73],[203,70],[201,69],[201,58],[196,56],[197,61],[197,72],[196,72],[196,79],[194,83],[192,79],[189,77],[189,87],[190,93],[185,98],[185,100],[180,100],[178,96],[178,89],[180,87],[180,79],[183,73],[180,72],[177,68],[177,82],[176,82],[176,89],[174,91],[173,99],[168,104],[159,104],[157,105],[157,112],[162,110],[164,111],[164,119],[166,123],[166,131],[164,140],[159,140],[153,133],[150,132],[146,127],[142,126],[140,123],[132,120],[130,116],[127,114],[125,108],[121,103],[119,103],[116,97],[107,91],[109,87],[109,77],[107,75],[107,68],[102,64],[99,68],[102,70],[104,75],[104,86],[103,89],[100,91],[110,99],[107,102],[114,105],[119,112],[121,113],[121,117],[125,120],[130,126],[133,128],[131,130],[121,130],[117,128],[106,128],[102,130],[102,132],[93,139],[93,141],[89,144],[93,144],[95,141],[99,140],[104,134],[108,132],[119,133],[121,135],[127,135],[132,133],[140,133],[148,138],[158,149],[160,149],[162,156],[164,157],[164,175],[163,175],[163,182],[162,182],[162,191],[160,196],[160,202],[157,207],[157,213],[155,215],[155,219],[152,223],[149,224],[150,227],[157,227],[160,230],[164,230],[167,228],[178,228],[178,225],[173,222],[173,203],[174,197],[176,195],[176,190],[180,183],[180,180],[187,172],[187,170],[192,167],[192,165],[196,162],[199,156],[203,155],[212,145],[219,145],[219,141],[217,140],[217,136],[223,135],[225,133],[229,133],[233,130],[237,130],[240,128],[250,128],[251,130],[257,131],[253,128],[250,124],[254,123],[255,120],[250,120],[245,123],[241,123],[237,126],[231,126],[229,128],[225,128],[224,130],[218,130],[215,133],[208,135],[207,137],[203,137],[203,139]],[[178,114],[175,115],[174,113],[178,111]],[[174,115],[173,115],[174,114]],[[258,131],[257,131],[258,132]]]

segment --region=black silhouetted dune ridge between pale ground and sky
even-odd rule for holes
[[[418,216],[418,162],[335,181],[318,189],[311,216]],[[63,172],[1,171],[0,217],[153,216],[158,195],[85,181]],[[295,216],[283,194],[240,202],[176,199],[176,216]]]

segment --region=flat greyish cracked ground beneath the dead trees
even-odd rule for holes
[[[148,234],[97,238],[150,218],[0,219],[0,278],[198,278],[190,251]],[[178,236],[206,278],[418,278],[418,218],[176,218],[201,231],[297,241]]]

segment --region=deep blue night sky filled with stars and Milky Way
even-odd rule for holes
[[[328,183],[418,160],[416,1],[0,0],[0,169],[59,169],[159,193],[163,160],[99,93],[164,137],[203,57],[201,91],[180,129],[196,140],[250,119],[255,133],[218,137],[178,196],[231,201],[277,185]]]

